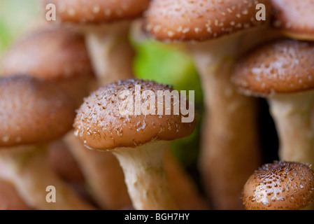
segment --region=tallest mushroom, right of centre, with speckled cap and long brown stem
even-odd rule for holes
[[[268,22],[255,18],[258,3],[266,6],[268,20],[271,8],[264,0],[155,0],[145,13],[150,36],[186,43],[201,76],[206,111],[199,169],[215,209],[242,209],[242,186],[262,163],[257,102],[238,94],[230,80],[235,59],[264,40],[243,45],[249,31],[267,31],[262,25]]]

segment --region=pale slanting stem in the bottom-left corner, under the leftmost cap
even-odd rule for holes
[[[45,146],[1,148],[0,165],[4,167],[1,178],[13,183],[23,200],[35,209],[94,209],[52,172],[45,154]],[[55,187],[55,202],[46,200],[48,186]]]

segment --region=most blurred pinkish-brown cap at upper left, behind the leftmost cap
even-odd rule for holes
[[[45,80],[94,75],[83,36],[45,27],[17,41],[3,57],[4,76],[29,74]]]

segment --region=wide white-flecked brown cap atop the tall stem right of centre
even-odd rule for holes
[[[256,20],[258,3],[264,3],[268,16],[268,0],[152,1],[145,13],[146,29],[161,41],[215,38],[263,24]]]

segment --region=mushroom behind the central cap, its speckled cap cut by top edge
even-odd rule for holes
[[[134,49],[129,43],[129,25],[140,17],[149,0],[63,1],[45,0],[57,10],[57,22],[83,31],[100,85],[134,77]]]

